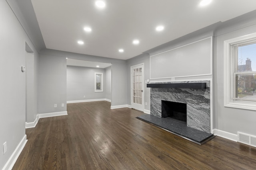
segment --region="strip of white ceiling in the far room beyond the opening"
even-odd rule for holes
[[[76,59],[67,59],[67,65],[68,66],[106,68],[108,66],[111,66],[112,64],[111,63],[92,62],[92,61],[83,61],[83,60],[76,60]]]

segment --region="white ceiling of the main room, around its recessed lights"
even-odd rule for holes
[[[201,0],[104,0],[104,9],[96,8],[95,0],[31,1],[46,48],[114,59],[130,59],[256,9],[256,0],[212,0],[204,7]],[[155,31],[158,25],[164,30]],[[134,39],[140,44],[133,45]]]

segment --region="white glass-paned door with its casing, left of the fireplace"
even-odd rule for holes
[[[144,63],[131,66],[131,107],[144,111]]]

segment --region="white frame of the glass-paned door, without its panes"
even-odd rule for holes
[[[134,106],[132,105],[133,104],[133,75],[132,75],[132,71],[133,71],[133,68],[134,67],[138,67],[138,66],[141,66],[142,67],[142,107],[141,109],[136,107],[134,108]],[[137,109],[139,111],[143,111],[144,112],[144,109],[145,109],[145,106],[144,106],[144,63],[140,63],[140,64],[136,64],[136,65],[133,65],[130,67],[130,97],[131,97],[131,108],[133,109]]]

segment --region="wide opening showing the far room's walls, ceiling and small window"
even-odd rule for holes
[[[67,58],[67,103],[112,100],[112,63]]]

